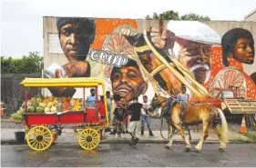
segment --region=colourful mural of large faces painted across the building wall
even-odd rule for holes
[[[155,93],[177,95],[184,85],[191,98],[214,97],[216,88],[223,88],[256,99],[254,41],[246,29],[232,28],[220,36],[197,21],[44,19],[47,77],[97,77],[103,64],[107,90],[128,102],[144,94],[149,99]],[[255,73],[247,74],[243,64]],[[80,96],[77,88],[49,91]]]

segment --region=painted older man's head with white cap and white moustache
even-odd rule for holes
[[[189,27],[189,29],[187,28]],[[175,34],[173,51],[200,84],[210,79],[211,46],[220,44],[220,35],[198,21],[169,21],[167,29]]]

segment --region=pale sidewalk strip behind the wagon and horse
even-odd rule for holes
[[[24,129],[18,129],[19,131],[24,131]],[[15,132],[17,129],[1,129],[1,144],[6,143],[15,143]],[[198,143],[200,141],[201,131],[200,133],[191,132],[192,141],[190,143]],[[155,136],[148,136],[148,131],[144,132],[144,135],[141,136],[138,134],[138,138],[140,139],[138,143],[168,143],[167,140],[163,139],[160,135],[160,131],[153,131]],[[163,131],[165,137],[167,137],[167,131]],[[106,133],[107,138],[101,140],[101,143],[128,143],[130,141],[130,135],[128,133],[124,133],[124,137],[115,137],[113,134]],[[187,137],[189,135],[187,134]],[[229,129],[228,133],[229,139],[243,139],[249,140],[248,137],[242,135],[241,133],[236,133]],[[64,129],[62,134],[58,136],[57,143],[77,143],[77,136],[73,134],[72,129]],[[184,143],[181,136],[179,134],[175,134],[173,138],[173,143]],[[209,137],[207,138],[205,143],[219,143],[218,136],[214,134],[210,130]]]

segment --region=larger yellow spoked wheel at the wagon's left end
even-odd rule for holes
[[[46,126],[35,126],[26,134],[26,143],[35,151],[44,151],[53,143],[53,134]]]

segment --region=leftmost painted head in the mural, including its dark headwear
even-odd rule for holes
[[[95,20],[61,17],[56,22],[59,42],[68,61],[85,61],[94,42]]]

